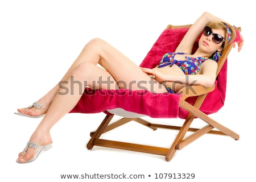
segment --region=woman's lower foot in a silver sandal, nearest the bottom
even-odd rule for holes
[[[20,152],[17,163],[28,163],[34,161],[41,151],[46,151],[51,148],[51,135],[49,133],[44,134],[32,134],[30,142],[24,148],[23,152]]]

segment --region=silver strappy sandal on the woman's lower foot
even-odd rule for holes
[[[23,152],[22,152],[23,155],[26,154],[26,151],[27,151],[28,147],[35,148],[35,149],[36,149],[34,156],[33,156],[32,158],[28,159],[28,160],[25,161],[25,162],[19,161],[19,160],[17,159],[17,160],[16,160],[17,163],[19,163],[19,164],[24,164],[24,163],[33,162],[34,160],[36,160],[36,158],[38,158],[39,154],[40,154],[42,151],[47,151],[47,150],[49,150],[49,149],[52,148],[52,142],[49,143],[49,144],[46,144],[46,145],[44,145],[44,146],[40,146],[39,144],[34,143],[34,142],[28,142],[28,143],[27,143],[27,146],[24,148],[24,150],[23,150]]]

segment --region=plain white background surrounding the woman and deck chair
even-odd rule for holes
[[[253,5],[246,1],[1,1],[1,181],[64,181],[61,174],[195,173],[194,180],[251,181],[255,178],[255,98]],[[51,130],[53,148],[29,164],[15,162],[40,119],[14,115],[42,97],[63,76],[92,38],[102,38],[138,65],[167,24],[190,24],[209,11],[242,27],[245,46],[234,48],[228,61],[224,107],[211,117],[240,134],[240,140],[205,135],[171,162],[163,156],[94,147],[86,149],[89,133],[104,118],[68,114]],[[250,57],[249,57],[250,56]],[[127,68],[129,69],[129,68]],[[179,124],[181,119],[152,119]],[[194,125],[201,125],[200,121]],[[162,132],[160,132],[162,131]],[[123,137],[115,137],[122,134]],[[177,131],[152,130],[129,123],[104,137],[169,147]],[[151,177],[148,177],[151,175]],[[72,181],[82,181],[77,179]],[[175,181],[162,179],[163,181]],[[71,181],[71,180],[70,180]],[[89,180],[94,181],[94,180]],[[96,180],[97,181],[97,180]],[[115,180],[119,181],[119,180]]]

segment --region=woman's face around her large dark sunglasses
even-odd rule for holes
[[[212,31],[212,34],[208,34],[208,35],[202,34],[201,38],[199,39],[200,49],[209,55],[211,55],[216,51],[222,51],[222,44],[224,43],[224,40],[222,40],[220,43],[216,43],[216,41],[214,41],[213,34],[218,34],[222,36],[222,38],[225,38],[224,30],[212,29],[211,31]],[[217,36],[217,35],[214,35],[214,36]]]

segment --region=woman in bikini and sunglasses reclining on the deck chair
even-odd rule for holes
[[[159,66],[154,69],[138,67],[104,40],[91,40],[64,75],[60,81],[61,84],[57,84],[32,106],[18,109],[17,114],[28,117],[45,115],[31,135],[30,142],[27,143],[24,151],[20,152],[16,162],[32,162],[38,157],[40,151],[51,148],[50,130],[80,100],[82,95],[80,87],[138,90],[143,86],[151,92],[173,93],[185,84],[212,86],[216,78],[218,52],[221,52],[236,36],[234,28],[222,22],[224,22],[222,19],[212,14],[203,13],[189,28],[175,53],[164,55]],[[202,30],[199,48],[191,55],[193,44]],[[238,51],[241,50],[242,45],[243,39],[241,38]],[[187,61],[191,61],[192,66],[186,67]],[[105,69],[98,67],[97,64]],[[100,79],[105,82],[99,84],[97,81]],[[149,83],[153,79],[157,82],[152,86]],[[71,85],[72,80],[79,81],[81,84]],[[130,84],[140,81],[141,83],[143,81],[143,85]],[[65,88],[63,83],[65,83]],[[63,94],[71,89],[72,93]]]

